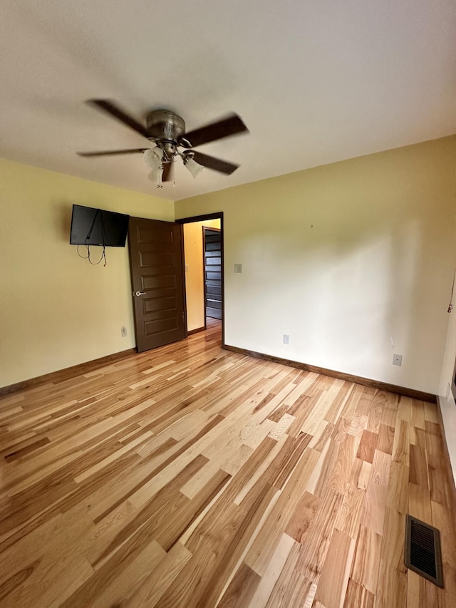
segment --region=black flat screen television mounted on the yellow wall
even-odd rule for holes
[[[124,213],[73,205],[70,244],[125,247],[129,219]]]

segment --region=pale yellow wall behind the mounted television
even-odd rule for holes
[[[0,386],[135,346],[128,247],[78,257],[73,203],[174,219],[173,202],[0,160]]]

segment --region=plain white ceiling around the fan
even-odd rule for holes
[[[171,200],[456,132],[455,0],[2,0],[0,156]],[[234,111],[249,135],[180,165],[157,190],[140,155],[77,150],[147,141],[84,104],[187,130]]]

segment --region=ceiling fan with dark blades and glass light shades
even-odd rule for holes
[[[136,133],[154,142],[155,148],[78,152],[80,156],[94,157],[142,153],[145,162],[152,168],[149,177],[157,182],[157,187],[161,187],[162,181],[172,181],[172,166],[178,156],[182,158],[182,162],[193,177],[197,177],[203,167],[219,171],[225,175],[230,175],[239,167],[239,165],[228,163],[226,160],[192,150],[197,145],[226,138],[229,135],[248,133],[249,130],[237,114],[232,113],[216,123],[185,133],[183,118],[170,110],[152,110],[147,114],[146,125],[144,126],[110,100],[90,99],[87,103],[98,110],[103,110],[103,112],[135,130]],[[184,150],[181,152],[178,148],[184,148]]]

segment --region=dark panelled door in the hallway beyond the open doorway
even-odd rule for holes
[[[218,228],[203,227],[206,316],[222,319],[222,239]]]

